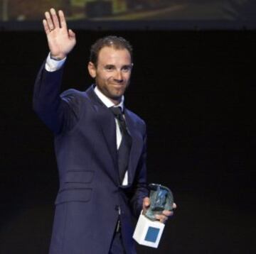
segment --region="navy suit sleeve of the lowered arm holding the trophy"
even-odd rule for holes
[[[144,197],[148,197],[149,191],[146,182],[146,125],[144,124],[144,145],[142,155],[137,166],[137,175],[134,181],[134,194],[131,199],[131,206],[134,216],[139,217],[142,211]]]

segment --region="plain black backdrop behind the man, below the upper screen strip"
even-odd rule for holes
[[[159,248],[138,253],[255,253],[256,33],[76,33],[63,89],[90,85],[97,38],[122,35],[134,45],[126,104],[147,123],[149,182],[170,187],[178,205]],[[0,50],[0,253],[43,254],[58,172],[32,93],[48,47],[43,31],[1,31]]]

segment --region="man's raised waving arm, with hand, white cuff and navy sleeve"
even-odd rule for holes
[[[75,33],[68,30],[63,11],[46,11],[43,27],[46,32],[50,57],[43,63],[36,78],[33,109],[55,133],[63,127],[63,117],[68,110],[67,100],[60,99],[60,85],[65,57],[75,46]],[[58,62],[55,62],[58,61]],[[68,96],[72,97],[72,94]]]

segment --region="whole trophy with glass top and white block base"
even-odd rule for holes
[[[169,188],[161,184],[149,184],[149,199],[149,209],[139,216],[133,238],[141,245],[157,248],[165,224],[156,219],[156,214],[161,214],[164,210],[171,211],[174,196]]]

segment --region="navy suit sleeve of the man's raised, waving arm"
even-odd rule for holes
[[[60,94],[62,76],[63,67],[48,72],[43,63],[33,92],[33,110],[55,134],[70,130],[79,118],[78,99],[72,89]]]

